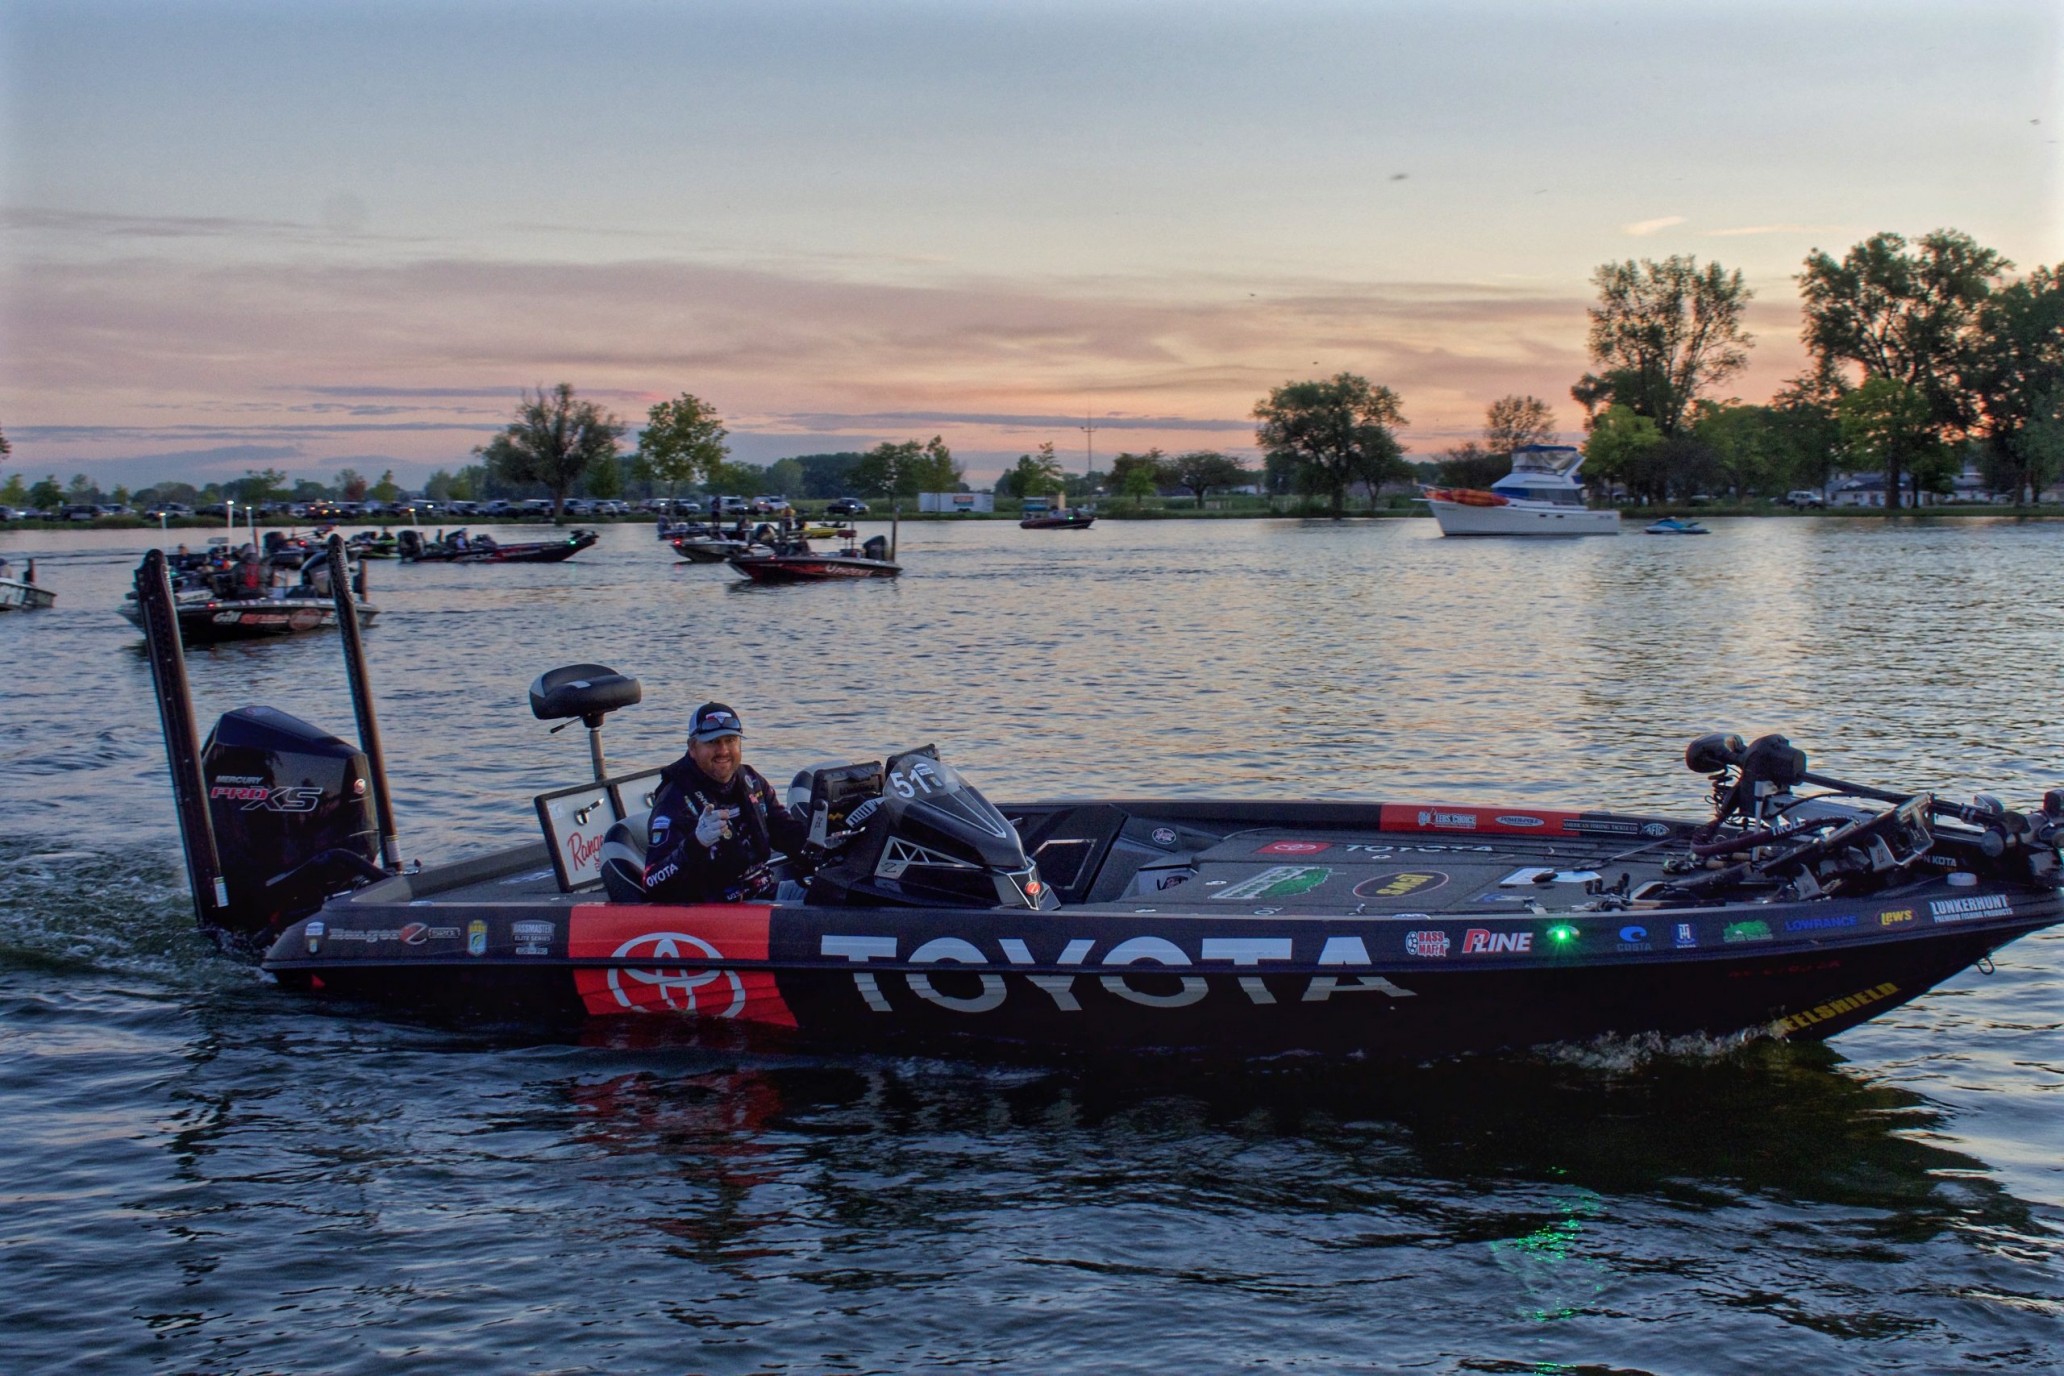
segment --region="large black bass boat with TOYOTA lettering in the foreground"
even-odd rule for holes
[[[656,772],[611,776],[601,749],[640,687],[601,664],[530,685],[533,716],[590,741],[592,778],[535,798],[541,836],[402,869],[359,637],[359,745],[272,708],[202,745],[159,555],[138,590],[200,924],[314,996],[832,1050],[1424,1058],[1829,1038],[2064,920],[2064,788],[2027,811],[1950,802],[1728,734],[1684,755],[1711,780],[1705,817],[999,807],[937,749],[902,749],[795,776],[809,840],[772,902],[648,904]]]

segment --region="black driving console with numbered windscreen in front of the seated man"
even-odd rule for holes
[[[824,778],[824,772],[819,772]],[[821,786],[813,792],[826,792]],[[817,836],[815,802],[811,840]],[[817,869],[809,902],[859,908],[1059,908],[1018,829],[939,761],[933,747],[892,755],[873,798],[844,798],[859,836]]]

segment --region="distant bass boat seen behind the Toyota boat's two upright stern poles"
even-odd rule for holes
[[[161,551],[153,553],[163,557]],[[357,623],[369,625],[380,609],[365,600],[365,565],[347,561],[343,567]],[[252,547],[229,553],[217,545],[206,553],[167,557],[165,569],[171,586],[171,621],[190,646],[303,635],[336,625],[326,549],[287,569]],[[149,631],[134,592],[124,596],[116,611],[130,625]]]

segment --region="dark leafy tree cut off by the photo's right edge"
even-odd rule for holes
[[[1965,382],[1984,417],[1988,481],[2035,501],[2064,466],[2064,264],[1986,299]]]

